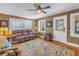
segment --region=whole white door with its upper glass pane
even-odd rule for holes
[[[67,42],[67,16],[55,17],[53,19],[53,40]]]

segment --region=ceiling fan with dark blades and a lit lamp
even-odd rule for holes
[[[34,5],[35,9],[28,9],[28,11],[36,11],[36,13],[40,13],[40,12],[47,13],[44,10],[50,8],[50,6],[42,7],[39,4],[33,4],[33,5]]]

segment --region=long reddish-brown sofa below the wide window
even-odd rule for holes
[[[31,29],[24,30],[13,30],[12,31],[12,42],[21,43],[28,40],[37,38],[37,33],[33,33]]]

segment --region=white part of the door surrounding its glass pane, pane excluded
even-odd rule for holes
[[[56,20],[64,19],[65,31],[56,31]],[[53,40],[66,43],[67,42],[67,16],[55,17],[53,19]]]

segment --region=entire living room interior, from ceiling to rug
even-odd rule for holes
[[[0,3],[0,12],[0,55],[79,56],[78,3]]]

